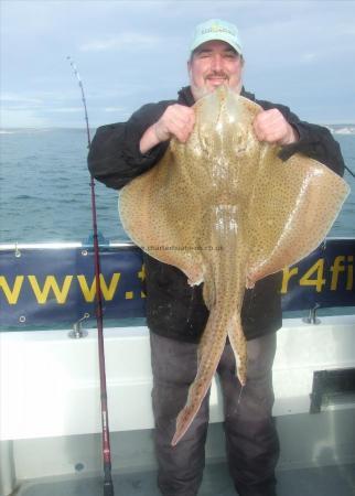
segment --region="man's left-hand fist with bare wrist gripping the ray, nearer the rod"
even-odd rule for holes
[[[141,153],[147,153],[158,143],[175,137],[185,143],[195,125],[195,112],[184,105],[170,105],[161,118],[147,129],[142,136],[139,147]]]

